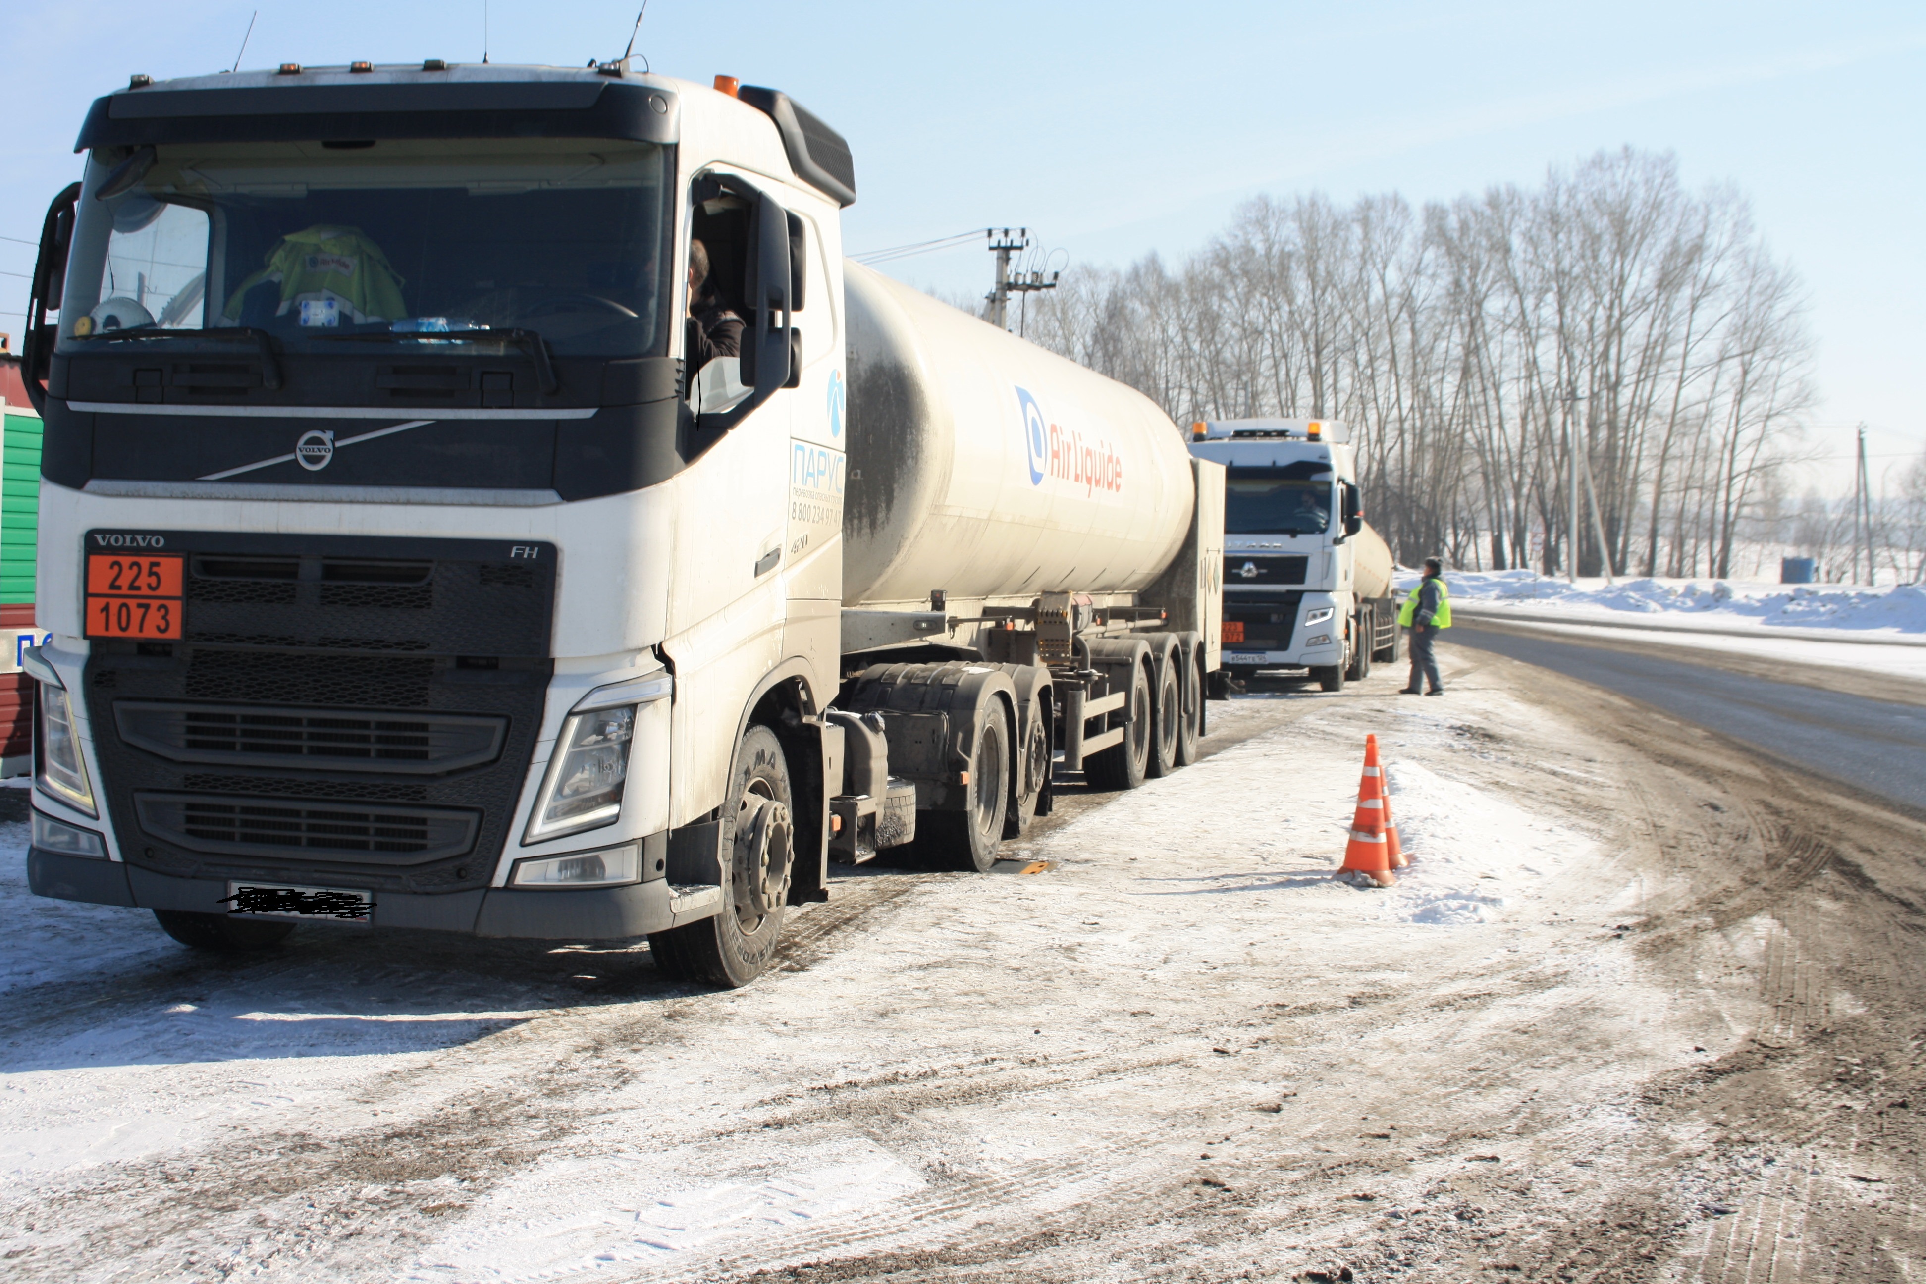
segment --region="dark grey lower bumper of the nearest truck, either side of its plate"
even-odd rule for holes
[[[221,914],[227,884],[206,878],[173,878],[121,860],[27,851],[27,884],[35,895],[129,909],[169,909]],[[534,941],[612,941],[707,918],[716,912],[715,889],[678,887],[666,880],[580,891],[478,887],[422,895],[377,891],[376,928],[462,932],[468,936]]]

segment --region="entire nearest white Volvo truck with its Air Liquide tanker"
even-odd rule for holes
[[[716,85],[92,106],[29,304],[37,893],[210,949],[647,934],[740,986],[828,860],[984,870],[1057,774],[1196,755],[1223,470],[847,264],[842,137]],[[701,370],[693,241],[743,321]]]

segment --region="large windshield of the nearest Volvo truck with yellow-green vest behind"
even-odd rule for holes
[[[110,164],[112,162],[112,164]],[[666,350],[668,152],[543,139],[162,146],[125,193],[89,166],[62,347],[117,331],[522,329],[557,354]],[[139,164],[139,162],[137,162]]]

